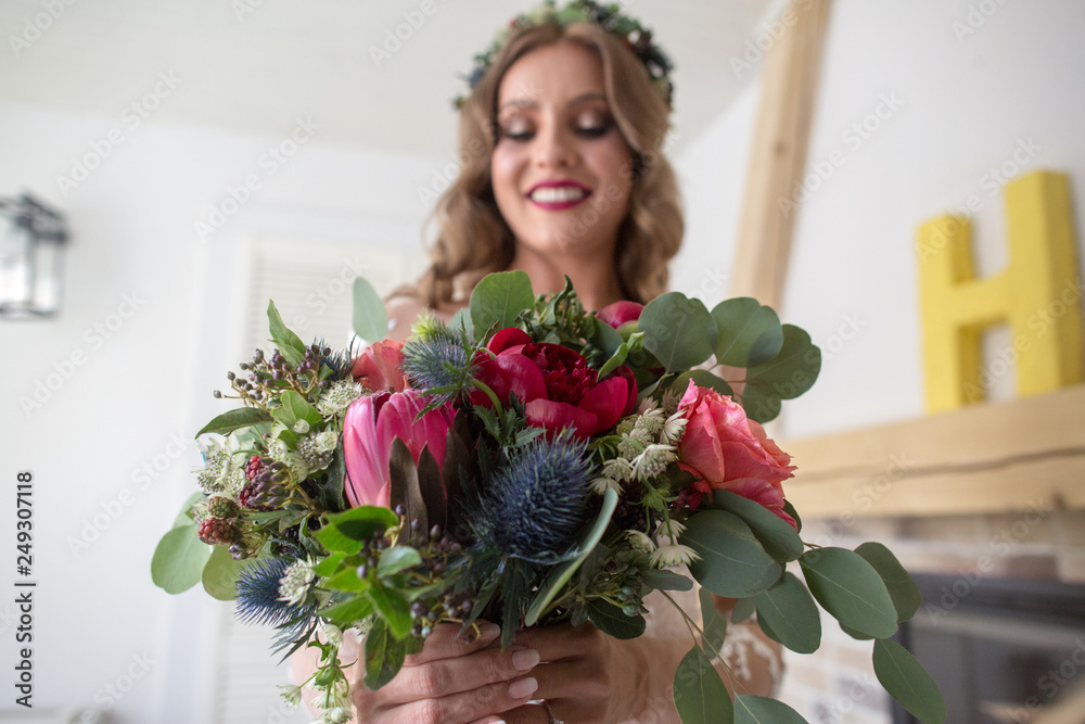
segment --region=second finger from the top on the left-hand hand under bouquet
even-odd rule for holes
[[[538,651],[514,647],[486,649],[417,666],[404,666],[386,687],[385,700],[396,704],[472,691],[489,684],[523,677],[538,662]]]

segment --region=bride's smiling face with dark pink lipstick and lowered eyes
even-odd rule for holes
[[[518,253],[613,258],[631,151],[610,113],[598,55],[570,42],[528,52],[501,79],[497,109],[494,195]]]

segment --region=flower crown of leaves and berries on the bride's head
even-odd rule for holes
[[[498,51],[513,33],[546,23],[556,23],[561,27],[574,23],[592,23],[615,36],[643,64],[652,85],[663,97],[667,107],[673,107],[674,82],[671,80],[671,72],[674,65],[663,50],[652,42],[652,31],[643,28],[638,20],[623,15],[616,3],[601,5],[592,0],[571,0],[560,10],[556,8],[554,0],[545,0],[534,10],[513,17],[509,21],[509,25],[497,34],[490,47],[474,56],[471,75],[461,76],[471,90],[474,90],[486,75]],[[459,96],[452,104],[460,109],[465,101],[465,96]]]

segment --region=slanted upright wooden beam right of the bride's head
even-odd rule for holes
[[[829,0],[794,0],[780,16],[784,33],[765,54],[761,109],[746,173],[730,296],[776,309],[791,255],[794,208],[781,207],[802,181]]]

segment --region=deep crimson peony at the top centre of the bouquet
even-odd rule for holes
[[[636,406],[637,382],[625,367],[600,382],[579,354],[560,344],[532,342],[519,329],[498,331],[487,347],[496,356],[482,353],[476,358],[477,379],[501,402],[515,393],[533,427],[551,432],[571,428],[577,437],[590,437]],[[489,404],[482,392],[472,393],[471,401]]]

